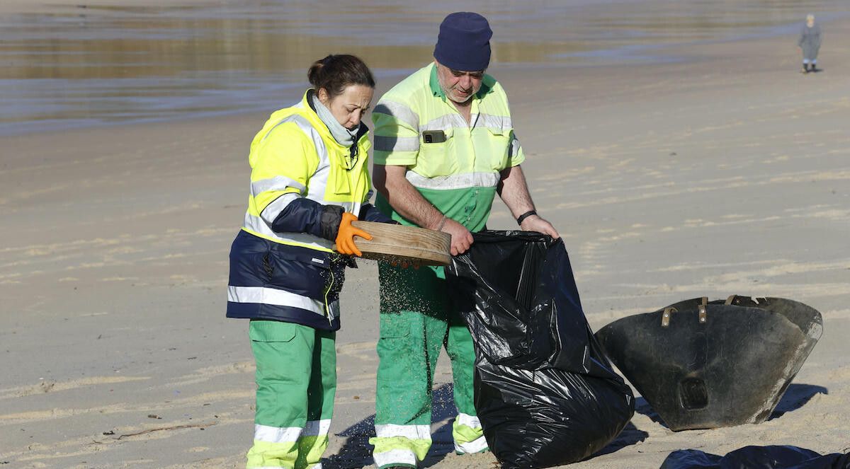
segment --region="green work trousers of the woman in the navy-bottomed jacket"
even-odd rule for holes
[[[336,332],[252,320],[257,415],[247,468],[318,469],[337,391]]]

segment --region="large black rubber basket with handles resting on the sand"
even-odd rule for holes
[[[670,429],[759,423],[818,342],[815,309],[784,298],[694,298],[596,336]]]

